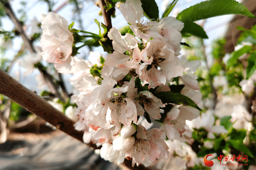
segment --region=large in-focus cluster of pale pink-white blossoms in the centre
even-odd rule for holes
[[[163,103],[150,89],[170,92],[173,78],[179,77],[185,85],[181,94],[200,107],[202,95],[193,74],[200,63],[179,56],[183,23],[173,17],[145,20],[140,0],[127,0],[119,9],[134,35],[110,29],[114,51],[106,56],[101,76],[90,75],[92,63],[71,56],[68,22],[53,12],[41,18],[42,55],[60,73],[74,74],[69,80],[80,92],[73,96],[79,119],[75,128],[84,131],[85,143],[101,146],[101,157],[109,161],[121,163],[126,158],[133,166],[155,165],[169,155],[166,139],[180,139],[186,120],[198,117],[199,110]],[[147,88],[138,90],[138,80]]]

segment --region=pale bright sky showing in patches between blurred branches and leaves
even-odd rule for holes
[[[24,0],[23,0],[24,1]],[[197,3],[202,2],[203,0],[179,0],[178,3],[176,4],[175,8],[173,9],[172,13],[169,16],[176,16],[177,13],[180,11],[188,8],[189,6],[195,5]],[[13,11],[15,12],[16,16],[19,18],[21,14],[18,12],[20,9],[24,9],[24,7],[20,4],[21,0],[13,0],[11,1],[11,5],[13,8]],[[27,2],[27,5],[25,7],[25,11],[27,11],[27,22],[25,25],[29,25],[29,22],[36,17],[36,19],[39,21],[40,15],[47,14],[48,13],[48,6],[46,3],[43,1],[38,1],[38,0],[30,0],[30,1],[25,1]],[[88,1],[81,1],[82,4],[79,4],[79,7],[82,9],[82,14],[81,18],[83,19],[83,27],[84,31],[89,31],[92,33],[98,33],[99,29],[98,26],[95,24],[94,19],[97,19],[98,21],[104,23],[103,17],[98,15],[98,12],[100,11],[100,8],[94,5],[94,2],[92,0]],[[156,3],[159,8],[159,14],[160,16],[164,12],[164,4],[167,6],[171,1],[170,0],[156,0]],[[241,0],[240,0],[241,2]],[[57,10],[65,4],[65,0],[60,0],[56,1],[54,0],[54,5],[53,5],[53,11]],[[74,6],[67,4],[62,7],[58,13],[60,16],[64,17],[65,19],[68,20],[68,23],[72,23],[75,18],[77,18],[76,15],[74,15],[73,12]],[[219,37],[223,37],[227,26],[228,22],[232,19],[233,15],[226,15],[226,16],[220,16],[220,17],[214,17],[214,18],[209,18],[206,20],[204,24],[204,30],[206,31],[209,39],[204,40],[204,44],[206,46],[206,55],[209,56],[209,64],[212,63],[212,58],[210,57],[211,53],[211,43],[216,40]],[[10,21],[9,18],[5,17],[2,19],[3,22],[3,29],[6,31],[10,31],[13,29],[14,25]],[[198,24],[200,24],[201,21],[198,21]],[[116,10],[116,18],[112,19],[112,25],[113,27],[116,27],[117,29],[126,26],[127,22],[125,21],[124,17],[120,13],[120,11],[117,9]],[[80,29],[78,22],[75,22],[74,28]],[[10,59],[13,58],[13,56],[17,53],[17,51],[20,49],[20,44],[22,40],[20,38],[17,38],[16,41],[14,42],[14,49],[12,51],[9,51],[8,57]],[[37,42],[36,45],[40,45],[39,42]],[[95,48],[94,51],[99,51],[104,54],[103,50],[101,47]],[[89,49],[88,48],[83,48],[81,49],[80,53],[89,55]],[[105,53],[106,54],[106,53]],[[83,56],[80,56],[83,57]],[[20,82],[26,85],[28,88],[35,88],[36,80],[35,80],[35,75],[38,74],[38,71],[34,71],[32,74],[30,74],[28,77],[23,77],[21,76],[22,74],[17,74],[17,72],[24,72],[25,69],[18,67],[18,65],[14,65],[11,75],[14,78],[20,79]],[[65,76],[65,81],[68,83],[68,78],[70,76]]]

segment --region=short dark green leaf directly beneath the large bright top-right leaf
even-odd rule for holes
[[[194,22],[184,23],[184,28],[181,30],[182,34],[191,34],[199,38],[208,38],[204,29]]]

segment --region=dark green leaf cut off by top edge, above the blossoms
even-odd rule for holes
[[[159,17],[159,10],[155,0],[140,0],[141,7],[149,19],[155,19]]]

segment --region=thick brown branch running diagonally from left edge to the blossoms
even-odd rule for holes
[[[84,133],[74,128],[75,122],[68,119],[41,96],[21,85],[2,69],[0,69],[0,93],[61,131],[83,142]],[[94,149],[97,148],[94,144],[89,144],[89,146]]]

